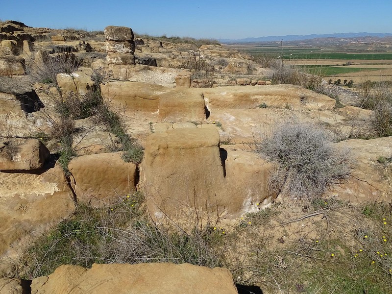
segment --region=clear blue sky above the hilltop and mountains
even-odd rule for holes
[[[391,0],[0,0],[0,20],[34,27],[241,39],[340,32],[392,33]]]

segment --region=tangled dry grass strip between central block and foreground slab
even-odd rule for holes
[[[221,241],[209,226],[186,233],[177,224],[158,224],[146,217],[143,195],[119,196],[112,206],[92,208],[78,203],[72,218],[49,231],[23,259],[23,277],[52,273],[62,264],[190,263],[221,266]]]

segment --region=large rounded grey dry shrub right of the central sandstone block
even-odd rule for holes
[[[270,189],[292,198],[320,197],[350,173],[348,150],[335,147],[310,124],[276,126],[256,144],[256,152],[276,163]]]

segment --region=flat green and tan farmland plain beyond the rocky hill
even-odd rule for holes
[[[392,46],[389,44],[377,47],[351,42],[345,45],[294,44],[281,47],[280,42],[273,42],[232,44],[228,47],[245,51],[254,57],[282,58],[283,51],[283,62],[286,65],[300,67],[304,72],[319,74],[328,79],[353,79],[355,83],[392,80]],[[373,47],[377,51],[372,52]]]

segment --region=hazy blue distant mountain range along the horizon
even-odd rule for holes
[[[256,42],[270,42],[270,41],[298,41],[298,40],[309,40],[315,38],[358,38],[358,37],[392,37],[392,33],[333,33],[333,34],[311,34],[311,35],[286,35],[286,36],[268,36],[258,38],[245,38],[238,40],[221,39],[221,43],[256,43]]]

